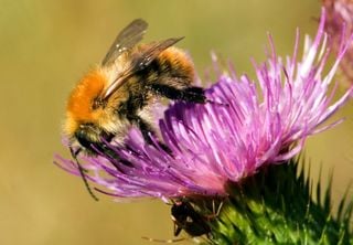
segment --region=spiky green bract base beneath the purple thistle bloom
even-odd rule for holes
[[[353,244],[352,198],[345,194],[332,214],[331,182],[321,198],[321,183],[312,188],[298,161],[267,166],[231,183],[211,223],[210,244]]]

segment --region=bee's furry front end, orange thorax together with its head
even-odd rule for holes
[[[114,136],[125,134],[127,122],[117,116],[116,103],[109,104],[110,100],[101,97],[108,79],[105,71],[98,67],[89,72],[71,93],[64,134],[73,145],[78,142],[88,149],[88,145],[101,143],[103,139],[110,141]]]

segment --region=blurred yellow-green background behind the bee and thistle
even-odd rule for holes
[[[151,244],[172,238],[170,206],[159,200],[95,202],[79,178],[53,164],[61,143],[65,100],[79,77],[98,63],[117,32],[132,19],[149,22],[147,41],[185,36],[203,76],[211,51],[254,75],[250,57],[265,60],[267,32],[277,53],[292,53],[296,28],[314,35],[320,1],[1,0],[0,244]],[[342,93],[343,86],[339,88]],[[308,139],[306,159],[323,182],[333,171],[335,204],[353,172],[353,106],[346,120]],[[180,244],[189,243],[188,241]]]

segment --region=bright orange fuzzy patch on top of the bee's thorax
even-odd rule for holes
[[[93,109],[93,100],[106,87],[108,79],[105,73],[95,68],[84,76],[71,93],[66,106],[65,131],[73,136],[81,124],[97,124],[105,117],[101,109]]]

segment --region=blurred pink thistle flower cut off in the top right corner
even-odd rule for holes
[[[332,40],[332,46],[339,52],[342,45],[342,31],[353,32],[353,1],[351,0],[323,0],[323,7],[328,12],[325,31]],[[347,50],[340,65],[343,74],[352,82],[353,79],[353,47]]]

